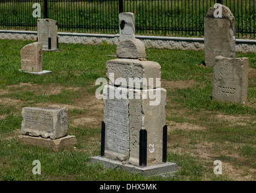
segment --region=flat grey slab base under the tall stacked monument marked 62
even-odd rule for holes
[[[106,157],[95,156],[91,157],[92,163],[101,163],[105,168],[122,168],[128,172],[138,172],[145,176],[151,175],[168,175],[176,171],[176,163],[165,162],[153,166],[135,166],[130,163],[122,164],[121,162],[107,159]]]

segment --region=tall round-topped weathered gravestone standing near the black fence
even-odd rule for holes
[[[228,7],[222,6],[222,17],[214,17],[217,8],[211,7],[204,18],[206,66],[214,66],[218,55],[235,58],[235,18]]]

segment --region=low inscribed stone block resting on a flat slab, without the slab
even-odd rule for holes
[[[66,107],[24,107],[21,133],[50,139],[66,136],[68,109]]]

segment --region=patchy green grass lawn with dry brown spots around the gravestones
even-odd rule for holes
[[[105,77],[106,61],[114,59],[107,55],[115,55],[116,46],[60,44],[61,52],[43,52],[43,69],[53,73],[34,76],[18,71],[20,50],[28,43],[31,41],[0,40],[0,180],[256,179],[252,170],[256,168],[255,76],[249,75],[248,103],[219,103],[211,100],[213,69],[201,65],[203,51],[146,49],[147,60],[162,68],[162,87],[167,89],[167,160],[177,163],[179,169],[174,176],[145,177],[90,162],[90,157],[100,154],[103,120],[103,108],[95,106],[103,107],[103,103],[93,100],[98,87],[95,80]],[[237,57],[248,57],[250,68],[256,69],[255,54]],[[59,92],[48,92],[58,87]],[[70,107],[68,134],[77,138],[75,149],[54,152],[16,142],[22,107],[39,104]],[[94,121],[75,125],[80,118]],[[237,169],[240,176],[225,172],[226,168],[223,175],[214,175],[217,159]],[[33,160],[40,160],[41,175],[32,174]]]

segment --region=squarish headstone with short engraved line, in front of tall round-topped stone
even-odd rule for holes
[[[213,68],[213,100],[246,103],[248,92],[248,58],[217,56]]]

